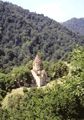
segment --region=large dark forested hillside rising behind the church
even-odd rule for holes
[[[46,61],[66,58],[76,44],[84,45],[84,37],[43,14],[0,1],[1,72],[25,65],[37,53]]]

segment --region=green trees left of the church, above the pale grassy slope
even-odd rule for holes
[[[12,89],[30,84],[32,78],[32,73],[26,66],[15,67],[8,74],[0,73],[0,101]]]

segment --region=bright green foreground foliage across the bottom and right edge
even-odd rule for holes
[[[45,90],[31,88],[26,91],[24,88],[23,96],[16,94],[9,97],[8,108],[0,109],[0,118],[84,120],[84,48],[78,47],[72,52],[71,65],[71,75],[62,78],[63,85],[55,84]],[[74,70],[77,70],[76,74],[72,74]]]

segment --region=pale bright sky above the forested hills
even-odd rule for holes
[[[64,22],[73,17],[84,18],[84,0],[2,0],[11,2],[30,12],[44,14]]]

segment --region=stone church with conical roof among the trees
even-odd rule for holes
[[[43,64],[38,54],[33,61],[33,69],[31,72],[34,78],[34,83],[38,87],[43,86],[46,82],[50,81],[50,78],[48,77],[46,71],[43,70]]]

